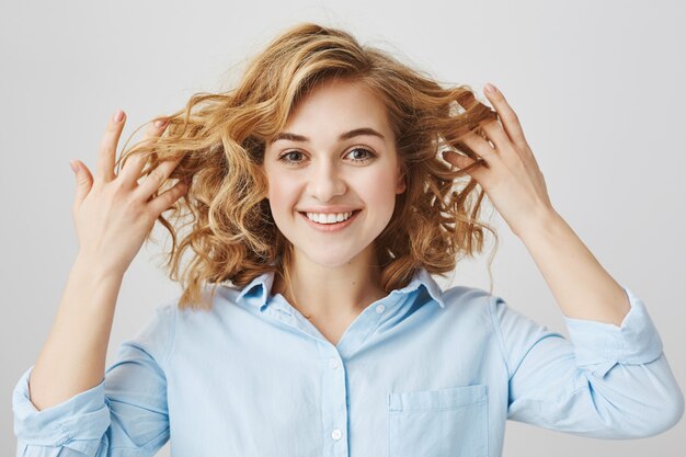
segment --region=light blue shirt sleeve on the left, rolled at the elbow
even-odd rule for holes
[[[28,382],[12,395],[18,457],[152,456],[169,439],[164,367],[174,334],[175,305],[159,306],[137,335],[124,341],[104,379],[38,411]]]

